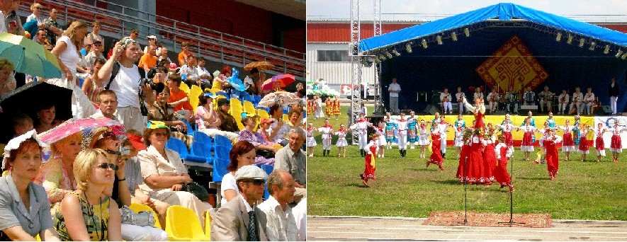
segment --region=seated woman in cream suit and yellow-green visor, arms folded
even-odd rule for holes
[[[147,129],[144,130],[144,143],[147,149],[137,154],[145,182],[140,188],[151,198],[192,209],[202,225],[203,214],[207,209],[211,209],[211,205],[198,200],[192,193],[183,191],[183,185],[193,180],[187,173],[187,168],[183,166],[181,156],[176,151],[166,149],[170,133],[169,127],[164,122],[152,120],[148,122]]]

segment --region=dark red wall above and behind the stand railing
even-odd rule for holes
[[[281,46],[273,35],[273,14],[261,8],[231,0],[170,1],[157,0],[157,15],[183,21],[241,38],[305,52],[305,21],[300,29],[284,29]],[[294,21],[299,21],[292,18]],[[279,30],[281,31],[281,30]]]

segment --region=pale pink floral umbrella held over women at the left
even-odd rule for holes
[[[98,119],[71,118],[65,122],[62,122],[57,127],[53,127],[46,132],[38,134],[38,137],[45,144],[52,144],[76,132],[89,132],[91,129],[94,129],[96,127],[111,127],[111,131],[113,132],[113,134],[115,134],[116,137],[118,137],[118,139],[121,140],[125,139],[126,137],[124,126],[122,125],[122,123],[108,119],[106,117]]]

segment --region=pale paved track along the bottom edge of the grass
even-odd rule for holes
[[[308,241],[627,241],[627,221],[553,219],[547,229],[424,226],[404,217],[307,217]]]

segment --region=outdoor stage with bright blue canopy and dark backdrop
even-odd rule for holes
[[[616,78],[618,112],[627,104],[627,35],[516,4],[496,4],[361,40],[359,51],[381,64],[380,83],[388,109],[387,88],[396,78],[400,108],[421,111],[418,93],[456,93],[461,87],[539,93],[545,86],[558,96],[575,87],[592,88],[609,105],[609,85]],[[486,90],[486,94],[487,94]],[[430,97],[429,97],[430,98]],[[453,100],[453,103],[456,103]],[[553,110],[557,113],[556,110]]]

